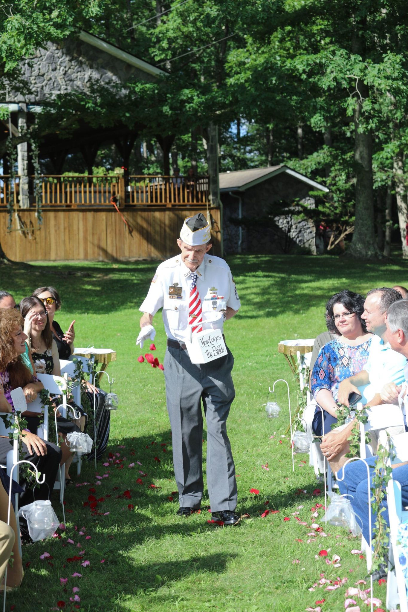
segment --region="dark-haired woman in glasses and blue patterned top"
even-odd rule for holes
[[[316,436],[330,431],[331,425],[337,422],[337,394],[341,381],[364,370],[368,360],[369,346],[373,334],[366,330],[365,321],[361,318],[364,310],[364,298],[353,291],[340,291],[327,302],[326,310],[336,326],[335,340],[324,345],[317,356],[311,375],[311,392],[322,412],[316,408],[312,429]],[[359,388],[363,404],[367,403],[364,395],[368,385]]]

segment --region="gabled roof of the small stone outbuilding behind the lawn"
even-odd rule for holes
[[[293,176],[298,181],[302,181],[316,190],[328,192],[328,188],[308,179],[304,174],[291,170],[288,166],[269,166],[268,168],[251,168],[250,170],[236,170],[234,172],[220,173],[220,192],[246,191],[262,181],[267,181],[278,174],[286,173]]]

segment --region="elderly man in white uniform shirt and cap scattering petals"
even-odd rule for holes
[[[234,278],[223,259],[207,255],[210,225],[201,213],[187,217],[177,244],[180,254],[158,266],[149,293],[139,308],[141,332],[136,343],[153,340],[152,319],[163,308],[168,337],[164,360],[166,401],[172,431],[174,473],[179,490],[179,516],[199,509],[202,479],[202,412],[207,422],[207,488],[213,518],[225,525],[239,523],[234,512],[237,483],[226,419],[235,397],[228,347],[207,363],[191,353],[195,334],[219,330],[240,308]],[[222,343],[222,339],[221,339]],[[189,352],[190,351],[190,352]]]

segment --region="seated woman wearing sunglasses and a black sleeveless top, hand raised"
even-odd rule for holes
[[[73,328],[72,321],[67,332],[62,331],[61,327],[55,320],[55,313],[61,308],[61,298],[57,290],[54,287],[39,287],[32,293],[33,297],[38,297],[44,304],[46,312],[48,313],[48,319],[50,320],[51,331],[53,332],[53,339],[56,341],[58,354],[60,359],[69,359],[73,353],[74,346],[73,341],[75,340],[75,330]],[[108,446],[109,439],[109,428],[110,428],[110,411],[105,410],[106,393],[98,387],[94,387],[89,381],[87,385],[87,398],[89,407],[94,408],[94,397],[95,397],[95,412],[97,418],[97,457],[101,457],[105,452],[106,446]],[[94,395],[95,390],[95,395]],[[83,425],[81,425],[83,431]],[[94,453],[92,452],[92,458]]]

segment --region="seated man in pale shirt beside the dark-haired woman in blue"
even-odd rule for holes
[[[372,289],[368,292],[364,302],[362,319],[366,322],[369,332],[373,332],[374,338],[365,369],[360,373],[347,378],[339,384],[338,404],[349,405],[349,395],[358,393],[357,387],[368,383],[373,385],[374,395],[369,400],[369,406],[379,406],[383,403],[380,392],[387,383],[400,385],[404,381],[404,367],[407,359],[403,354],[393,351],[386,338],[387,309],[391,304],[401,300],[401,294],[395,289],[382,287]],[[330,462],[333,472],[338,471],[344,465],[345,455],[349,452],[348,438],[354,427],[352,420],[346,427],[330,431],[322,438],[321,449]],[[394,430],[391,433],[399,433]]]

